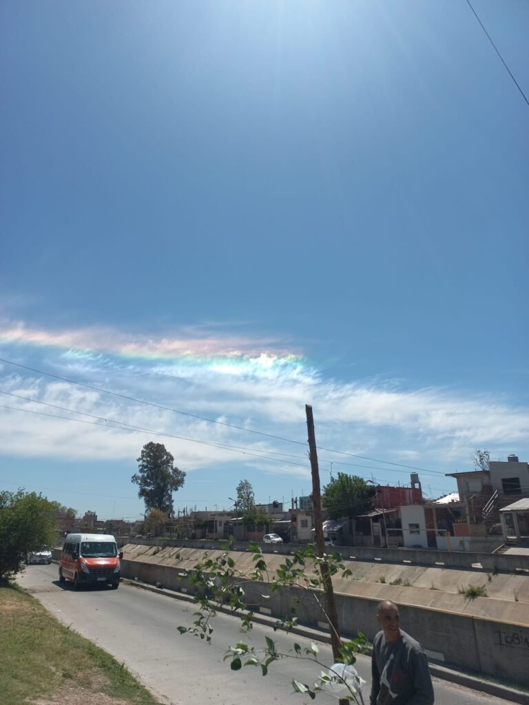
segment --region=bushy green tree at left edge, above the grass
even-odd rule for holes
[[[0,582],[11,580],[23,568],[28,551],[53,546],[57,510],[35,492],[0,492]]]

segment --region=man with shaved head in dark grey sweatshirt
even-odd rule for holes
[[[425,650],[400,628],[394,602],[379,603],[382,627],[373,639],[371,705],[432,705],[434,689]]]

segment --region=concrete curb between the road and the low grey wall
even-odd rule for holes
[[[142,590],[148,590],[150,592],[156,592],[160,595],[166,595],[174,599],[183,600],[186,602],[193,602],[194,597],[192,595],[187,595],[182,592],[175,592],[173,590],[168,590],[163,587],[155,587],[154,585],[149,585],[145,582],[139,582],[136,580],[130,580],[129,578],[122,578],[122,582],[126,582],[135,587],[139,587]],[[232,611],[228,608],[217,607],[217,612],[224,614],[232,614]],[[267,617],[266,615],[261,615],[255,613],[253,615],[253,621],[257,624],[273,626],[276,623],[276,619],[273,617]],[[307,637],[308,639],[317,639],[319,642],[330,643],[331,639],[326,632],[321,630],[315,630],[311,627],[295,627],[291,630],[292,634],[299,635],[301,637]],[[370,656],[370,653],[367,655]],[[529,692],[524,693],[520,690],[510,688],[506,685],[501,685],[500,683],[494,683],[490,680],[483,680],[478,675],[470,675],[468,673],[463,673],[462,671],[456,670],[454,668],[447,668],[446,666],[440,666],[437,663],[430,663],[430,673],[435,678],[441,678],[442,680],[447,680],[457,685],[463,685],[466,688],[477,690],[482,693],[487,693],[488,695],[493,695],[494,697],[503,698],[504,700],[509,700],[514,703],[519,703],[520,705],[529,705]]]

